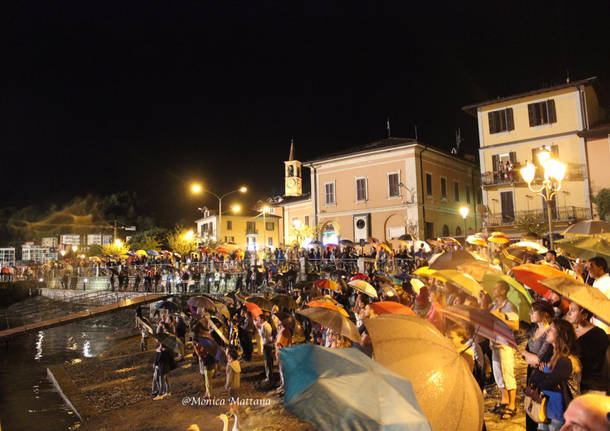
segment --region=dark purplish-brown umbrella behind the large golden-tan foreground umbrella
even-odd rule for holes
[[[517,348],[515,334],[499,317],[487,310],[468,307],[466,305],[453,305],[441,309],[441,313],[448,319],[457,323],[467,323],[474,326],[474,331],[494,343]]]

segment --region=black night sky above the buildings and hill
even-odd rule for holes
[[[461,106],[610,83],[610,2],[12,2],[3,5],[0,206],[133,190],[196,216],[198,179],[279,194],[300,160],[385,135],[449,149]],[[208,201],[213,206],[213,201]]]

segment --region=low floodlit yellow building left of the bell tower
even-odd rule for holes
[[[263,211],[245,211],[240,214],[223,212],[221,243],[235,243],[242,249],[262,250],[275,248],[280,244],[281,217],[271,213],[272,208]],[[218,239],[219,217],[216,212],[205,211],[203,217],[195,220],[197,235],[202,242]]]

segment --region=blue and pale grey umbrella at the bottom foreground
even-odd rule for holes
[[[321,430],[431,431],[413,387],[354,348],[280,350],[284,406]]]

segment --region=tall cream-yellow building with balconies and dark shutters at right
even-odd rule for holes
[[[590,173],[582,135],[604,117],[596,78],[462,109],[478,122],[487,228],[510,230],[526,216],[546,217],[544,199],[530,191],[519,173],[520,168],[532,162],[538,165],[536,175],[539,179],[542,169],[537,154],[542,150],[550,151],[567,166],[561,191],[551,202],[557,229],[568,222],[591,217]],[[606,145],[600,156],[607,157],[607,152]]]

